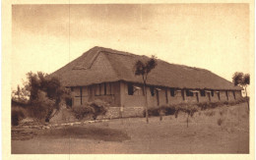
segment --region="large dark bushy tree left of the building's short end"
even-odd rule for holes
[[[70,90],[57,78],[48,77],[41,72],[28,73],[27,78],[28,81],[23,88],[18,85],[17,90],[13,91],[12,100],[26,103],[30,116],[49,122],[53,117],[53,110],[59,110],[60,106],[70,98]]]

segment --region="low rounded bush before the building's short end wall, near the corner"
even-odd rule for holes
[[[96,120],[97,116],[106,114],[108,105],[104,101],[96,100],[84,105],[74,106],[72,110],[75,113],[75,117],[79,120],[88,115],[93,115],[94,120]]]

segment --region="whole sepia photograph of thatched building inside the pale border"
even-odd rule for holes
[[[13,4],[11,154],[254,153],[250,5]]]

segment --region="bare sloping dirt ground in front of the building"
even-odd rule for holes
[[[115,119],[12,140],[13,154],[249,153],[246,103],[186,115]]]

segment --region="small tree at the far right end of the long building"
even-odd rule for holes
[[[247,99],[248,104],[248,110],[250,110],[249,99],[247,96],[247,86],[250,84],[250,75],[236,72],[233,74],[232,81],[235,86],[240,85],[244,88],[245,97]]]

